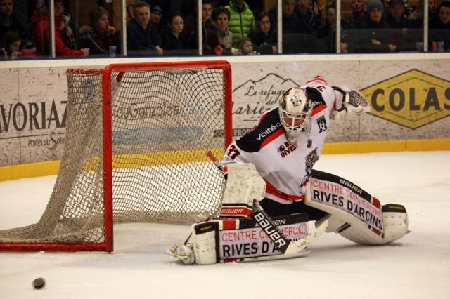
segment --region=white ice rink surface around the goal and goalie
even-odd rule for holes
[[[0,253],[0,298],[450,298],[450,151],[323,155],[314,168],[406,206],[411,233],[385,246],[329,233],[302,258],[185,266],[164,251],[189,227],[115,225],[111,254]],[[0,229],[37,222],[55,179],[0,182]]]

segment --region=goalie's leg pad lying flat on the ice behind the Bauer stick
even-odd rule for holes
[[[314,230],[303,213],[273,218],[290,240],[301,240]],[[221,219],[192,225],[195,263],[207,265],[225,262],[276,260],[307,255],[309,244],[301,251],[281,254],[254,218]]]

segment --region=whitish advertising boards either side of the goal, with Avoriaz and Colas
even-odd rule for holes
[[[450,138],[450,60],[231,62],[231,67],[234,138],[248,133],[288,88],[317,75],[359,89],[371,104],[368,114],[333,121],[326,142]],[[0,166],[62,157],[66,69],[0,69]],[[115,116],[125,117],[120,109],[114,108]]]

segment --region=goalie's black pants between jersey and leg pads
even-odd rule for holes
[[[319,220],[327,214],[317,208],[305,205],[303,201],[294,201],[292,204],[280,204],[271,199],[264,198],[262,201],[259,201],[259,204],[261,204],[262,208],[264,208],[264,211],[266,211],[269,216],[307,213],[309,220]]]

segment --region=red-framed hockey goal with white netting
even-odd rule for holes
[[[205,155],[232,141],[225,61],[68,69],[65,148],[39,222],[0,251],[113,251],[113,222],[217,215],[224,178]]]

